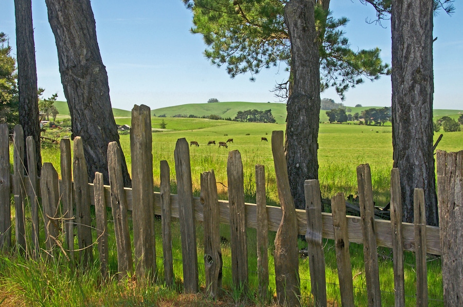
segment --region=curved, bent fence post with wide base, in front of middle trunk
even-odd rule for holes
[[[283,152],[283,131],[272,132],[275,176],[283,217],[275,237],[275,283],[277,300],[288,306],[300,305],[297,218]]]

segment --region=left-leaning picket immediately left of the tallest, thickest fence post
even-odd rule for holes
[[[108,174],[111,185],[111,204],[116,234],[117,271],[119,279],[127,277],[133,270],[130,244],[127,200],[122,177],[122,157],[117,142],[108,144]]]

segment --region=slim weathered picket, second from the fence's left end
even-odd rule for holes
[[[24,222],[24,131],[21,125],[13,130],[13,172],[16,246],[20,252],[26,251],[26,226]]]

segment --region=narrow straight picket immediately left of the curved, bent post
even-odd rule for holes
[[[269,301],[269,223],[265,197],[265,167],[256,165],[257,278],[261,301]]]

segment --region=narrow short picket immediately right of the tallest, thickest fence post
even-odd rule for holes
[[[174,283],[173,258],[172,258],[172,232],[171,232],[171,209],[170,209],[170,167],[166,160],[161,161],[161,223],[163,236],[163,261],[164,279],[168,286]],[[154,197],[153,197],[154,198]]]

